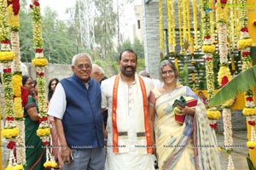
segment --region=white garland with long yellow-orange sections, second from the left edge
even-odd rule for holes
[[[19,0],[9,0],[8,2],[8,13],[9,13],[9,26],[10,26],[10,37],[12,42],[12,49],[15,52],[15,59],[13,62],[14,76],[13,76],[13,87],[14,87],[14,111],[15,111],[15,120],[16,126],[19,127],[20,133],[16,138],[16,158],[17,164],[22,165],[26,164],[26,150],[25,146],[25,124],[23,119],[23,107],[21,101],[21,90],[22,86],[22,73],[20,71],[20,2]]]

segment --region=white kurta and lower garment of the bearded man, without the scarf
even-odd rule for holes
[[[130,52],[131,53],[131,52]],[[131,58],[128,58],[131,59]],[[119,61],[120,62],[120,61]],[[120,70],[126,67],[119,64]],[[124,68],[125,67],[125,68]],[[118,85],[116,77],[119,77]],[[114,77],[102,82],[102,109],[108,108],[108,144],[105,163],[106,170],[154,170],[154,155],[147,152],[147,133],[143,112],[143,93],[138,75],[133,75],[133,81],[124,81],[122,71]],[[141,77],[146,89],[146,105],[150,90],[154,83],[148,77]],[[113,87],[117,87],[116,94],[116,125],[119,133],[119,151],[113,152]],[[144,103],[145,104],[145,103]],[[144,109],[143,109],[144,108]],[[146,134],[146,135],[145,135]]]

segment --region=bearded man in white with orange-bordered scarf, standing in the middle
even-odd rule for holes
[[[153,139],[148,122],[148,96],[154,83],[140,77],[137,54],[119,55],[119,74],[102,82],[102,109],[108,108],[106,170],[153,170]]]

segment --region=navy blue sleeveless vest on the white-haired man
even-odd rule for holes
[[[67,107],[62,118],[67,144],[74,150],[104,146],[100,83],[90,79],[85,87],[76,75],[61,80]]]

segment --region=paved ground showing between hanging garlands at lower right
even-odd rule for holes
[[[218,139],[218,145],[224,145],[224,134],[216,133]],[[234,150],[231,153],[232,160],[236,170],[247,170],[247,155],[249,150],[247,148],[247,131],[233,132],[233,145]],[[222,169],[227,169],[229,156],[225,153],[225,150],[220,151],[220,158],[223,165]]]

